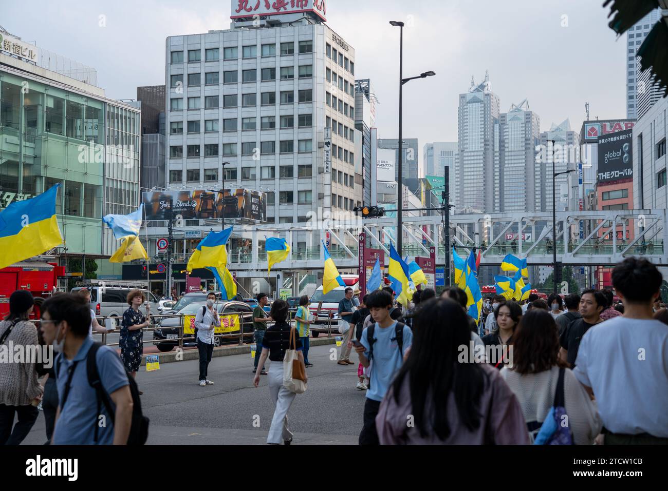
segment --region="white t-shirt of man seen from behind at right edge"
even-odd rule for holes
[[[668,438],[668,326],[622,316],[582,336],[573,374],[613,433]]]

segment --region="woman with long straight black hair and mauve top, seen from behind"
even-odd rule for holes
[[[380,443],[528,444],[522,408],[498,370],[458,362],[471,333],[460,304],[432,300],[415,326],[413,346],[374,418]]]

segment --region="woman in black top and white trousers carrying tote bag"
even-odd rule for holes
[[[289,445],[293,439],[293,433],[288,426],[288,412],[290,406],[295,400],[295,393],[290,392],[283,386],[283,359],[285,352],[290,349],[295,349],[298,352],[299,360],[304,361],[302,353],[301,338],[295,338],[295,344],[291,343],[291,327],[286,322],[288,317],[288,304],[285,300],[276,300],[271,306],[269,315],[275,321],[275,324],[265,332],[265,337],[262,340],[262,354],[258,364],[260,370],[265,367],[267,358],[271,360],[269,364],[269,394],[273,400],[276,409],[271,420],[271,427],[269,428],[269,435],[267,436],[268,444],[283,444]],[[306,376],[308,382],[308,376]],[[260,383],[260,374],[256,373],[253,378],[255,387]]]

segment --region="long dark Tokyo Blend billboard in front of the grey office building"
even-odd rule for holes
[[[153,191],[142,193],[142,203],[146,209],[147,220],[166,220],[169,218],[170,201],[174,210],[173,217],[181,215],[184,220],[244,218],[255,221],[267,221],[267,195],[251,189],[225,189],[206,191],[204,189],[185,191]]]

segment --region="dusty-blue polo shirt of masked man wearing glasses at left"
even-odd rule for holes
[[[86,338],[73,360],[67,360],[63,354],[59,354],[56,358],[55,382],[58,388],[59,404],[65,394],[69,367],[74,362],[77,362],[77,366],[74,369],[65,407],[60,408],[60,416],[55,424],[53,438],[51,438],[53,445],[95,444],[95,427],[101,420],[98,417],[98,398],[95,389],[88,384],[86,373],[86,356],[91,346],[93,342]],[[128,374],[116,350],[110,346],[101,346],[96,353],[96,361],[102,387],[107,394],[112,394],[130,384]],[[114,402],[112,402],[112,408],[116,409]],[[114,423],[104,404],[101,405],[100,413],[104,415],[105,425],[98,426],[98,444],[111,445],[114,442]]]

